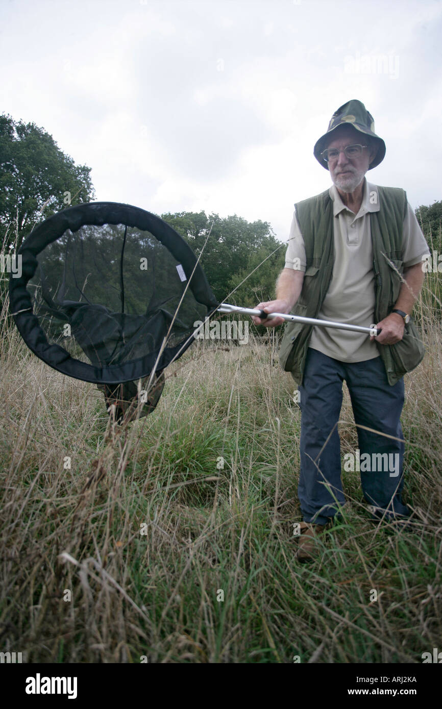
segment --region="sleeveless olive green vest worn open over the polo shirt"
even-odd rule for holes
[[[391,313],[402,285],[402,230],[407,213],[407,194],[396,187],[377,186],[380,210],[370,212],[375,273],[374,322]],[[306,270],[302,291],[291,313],[317,318],[333,273],[333,200],[328,190],[295,204],[299,228],[304,237]],[[358,323],[355,323],[356,325]],[[302,384],[304,364],[313,325],[287,323],[280,348],[280,364]],[[406,372],[424,358],[424,345],[414,323],[404,328],[404,337],[396,345],[376,342],[385,364],[388,383],[393,386]]]

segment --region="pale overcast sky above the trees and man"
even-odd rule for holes
[[[350,99],[387,144],[368,180],[442,199],[441,37],[440,0],[0,0],[0,113],[92,167],[100,201],[286,240]]]

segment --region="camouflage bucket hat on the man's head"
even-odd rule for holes
[[[377,153],[375,155],[375,159],[370,162],[368,167],[369,170],[372,169],[372,167],[376,167],[380,164],[380,162],[382,162],[382,160],[384,160],[385,143],[382,138],[375,133],[375,121],[373,121],[371,113],[368,113],[367,108],[365,108],[361,101],[352,99],[346,104],[343,104],[343,106],[338,108],[338,110],[333,113],[333,116],[331,116],[331,121],[328,123],[327,132],[324,133],[324,135],[321,135],[321,138],[319,138],[314,146],[314,157],[316,157],[316,160],[322,165],[322,167],[325,167],[325,169],[328,170],[326,161],[321,157],[321,152],[325,150],[326,147],[326,139],[333,130],[338,128],[339,125],[352,125],[353,128],[355,128],[355,130],[359,130],[360,133],[365,133],[365,135],[371,135],[372,138],[375,138]]]

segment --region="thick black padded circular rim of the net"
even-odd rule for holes
[[[131,362],[102,367],[81,362],[60,345],[51,345],[48,342],[38,318],[33,314],[31,295],[26,287],[38,267],[37,256],[46,246],[60,238],[68,229],[76,232],[85,225],[104,224],[124,224],[150,232],[182,264],[186,273],[192,274],[194,271],[189,290],[195,300],[206,306],[208,314],[216,311],[219,302],[187,242],[164,220],[145,209],[119,202],[87,202],[67,207],[45,219],[28,235],[18,250],[18,255],[21,256],[21,277],[15,278],[11,274],[9,279],[9,309],[18,331],[29,349],[57,372],[93,384],[122,384],[148,376],[155,367],[158,353],[152,352]],[[165,347],[156,366],[157,372],[165,369],[177,356],[181,356],[192,342],[194,337],[187,337],[175,347]]]

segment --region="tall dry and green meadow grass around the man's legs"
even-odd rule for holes
[[[51,663],[420,664],[442,629],[442,342],[424,296],[427,354],[402,415],[414,530],[372,523],[358,473],[343,472],[345,519],[309,565],[294,560],[300,412],[271,344],[196,342],[156,411],[121,430],[4,313],[1,649]],[[341,420],[344,454],[357,447],[346,391]]]

